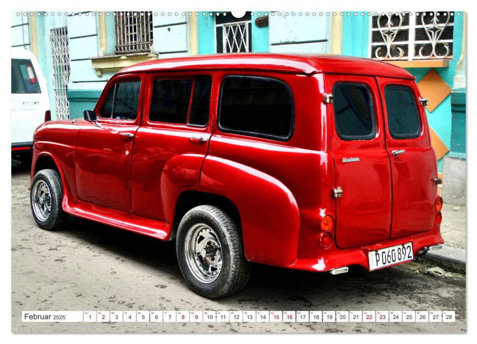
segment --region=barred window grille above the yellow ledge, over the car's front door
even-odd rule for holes
[[[149,53],[152,46],[152,13],[114,13],[116,54]]]

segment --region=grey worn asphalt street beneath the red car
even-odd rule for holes
[[[244,290],[208,300],[185,284],[174,242],[70,217],[64,229],[36,226],[29,172],[12,164],[13,333],[465,333],[465,281],[404,264],[332,276],[253,266]],[[416,267],[417,266],[417,267]],[[455,322],[22,322],[22,311],[455,311]]]

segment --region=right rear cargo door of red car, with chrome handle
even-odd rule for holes
[[[376,78],[393,179],[391,237],[426,231],[435,216],[437,163],[413,80]]]

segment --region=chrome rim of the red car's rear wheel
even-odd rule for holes
[[[217,233],[200,223],[186,235],[184,247],[189,270],[202,283],[214,282],[222,270],[222,250]]]

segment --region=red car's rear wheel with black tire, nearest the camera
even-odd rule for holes
[[[202,246],[201,253],[196,253]],[[221,298],[249,281],[251,264],[244,255],[239,227],[213,205],[199,205],[184,215],[177,230],[176,252],[182,275],[199,295]]]

